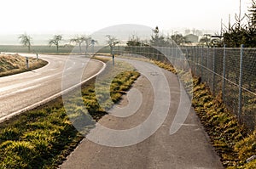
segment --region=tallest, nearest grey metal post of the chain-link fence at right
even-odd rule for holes
[[[238,95],[238,119],[240,120],[241,116],[241,87],[242,87],[242,58],[243,58],[243,44],[241,44],[240,50],[240,70],[239,70],[239,95]]]

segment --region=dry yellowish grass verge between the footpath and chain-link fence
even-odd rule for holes
[[[159,61],[154,61],[154,64],[177,74],[172,65]],[[212,96],[207,84],[202,83],[200,77],[193,76],[193,78],[192,105],[224,167],[256,168],[256,159],[247,162],[249,157],[256,155],[256,131],[247,133],[247,128],[226,109],[221,94]]]

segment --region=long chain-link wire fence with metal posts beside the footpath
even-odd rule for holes
[[[189,64],[213,95],[222,94],[224,104],[241,123],[250,131],[255,129],[256,48],[116,47],[115,54],[140,55],[172,65]]]

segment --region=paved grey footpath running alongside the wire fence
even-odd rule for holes
[[[109,115],[102,117],[61,169],[223,168],[193,108],[189,107],[189,113],[185,113],[187,105],[181,99],[177,76],[162,70],[164,77],[154,66],[139,61],[133,64],[145,73]],[[171,97],[167,97],[169,93]],[[160,97],[160,103],[156,97]],[[170,128],[179,108],[186,118],[180,121],[179,130],[172,133]]]

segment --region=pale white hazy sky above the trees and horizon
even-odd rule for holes
[[[241,0],[242,14],[251,0]],[[139,24],[160,30],[216,30],[239,11],[239,0],[3,0],[0,34],[93,32],[111,25]]]

